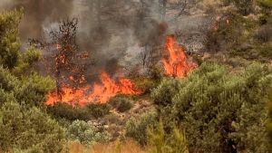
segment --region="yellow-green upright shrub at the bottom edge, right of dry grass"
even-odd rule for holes
[[[174,128],[170,135],[167,135],[162,120],[157,128],[149,128],[147,134],[149,153],[189,153],[184,133]]]

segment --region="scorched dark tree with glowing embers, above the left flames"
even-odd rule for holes
[[[77,89],[86,81],[84,76],[87,53],[81,53],[76,43],[78,20],[62,21],[58,30],[50,32],[51,42],[31,40],[30,43],[47,50],[51,57],[45,57],[49,72],[53,72],[57,95],[62,100],[63,87]]]

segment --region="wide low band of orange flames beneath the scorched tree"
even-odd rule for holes
[[[102,72],[100,79],[102,83],[94,83],[92,87],[80,89],[63,87],[61,95],[58,95],[57,91],[53,91],[47,95],[45,105],[66,102],[72,105],[84,106],[88,103],[107,102],[117,94],[141,94],[141,91],[136,90],[135,84],[129,79],[119,78],[114,81],[106,72]]]

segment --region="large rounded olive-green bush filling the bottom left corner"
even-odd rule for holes
[[[60,152],[63,139],[64,130],[37,108],[6,102],[0,109],[0,148],[4,152],[14,148]]]

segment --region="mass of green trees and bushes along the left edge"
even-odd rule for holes
[[[39,110],[54,82],[28,69],[40,53],[19,51],[22,15],[0,14],[0,152],[61,152],[64,130]]]

